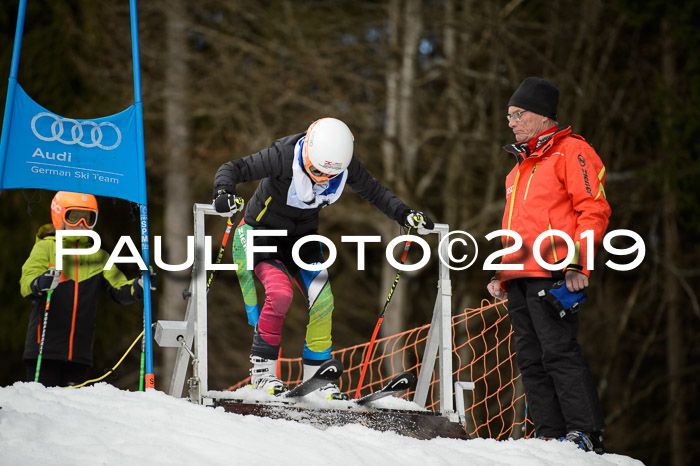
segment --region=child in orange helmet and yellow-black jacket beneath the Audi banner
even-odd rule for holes
[[[45,386],[76,385],[85,381],[92,366],[92,344],[100,294],[112,301],[131,304],[143,299],[143,280],[127,280],[117,267],[103,270],[109,254],[100,249],[90,255],[64,256],[56,270],[56,230],[92,230],[97,223],[97,200],[91,194],[59,191],[51,202],[53,225],[42,226],[29,258],[22,266],[20,291],[31,299],[24,362],[27,380],[34,381],[43,342],[39,382]],[[92,246],[87,236],[64,236],[66,249]],[[151,289],[155,275],[151,272]],[[42,328],[47,292],[46,328]]]

